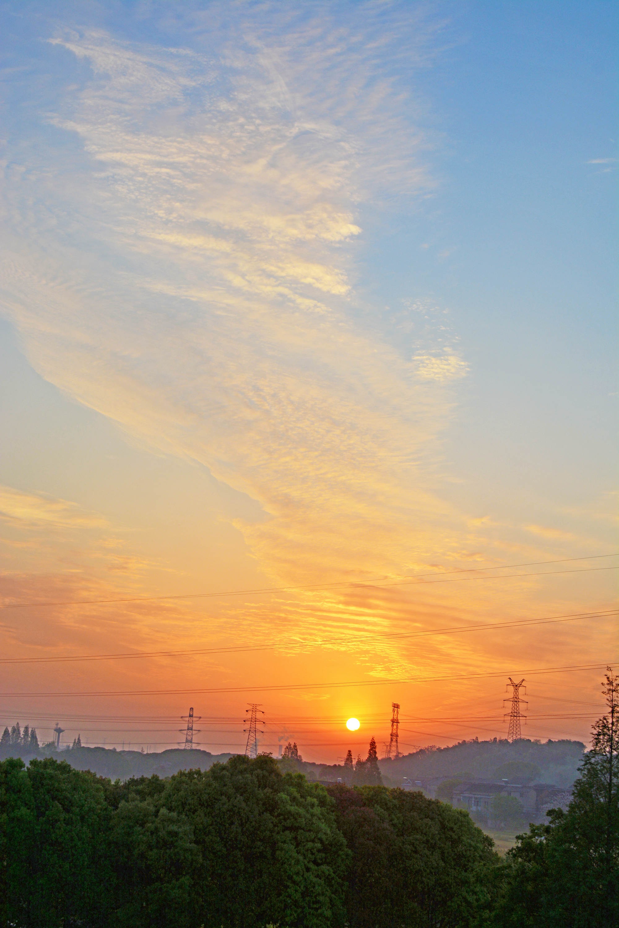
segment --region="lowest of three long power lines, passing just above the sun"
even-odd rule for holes
[[[603,664],[580,664],[580,665],[567,665],[567,666],[558,666],[558,667],[538,667],[533,670],[525,670],[523,673],[526,674],[554,674],[554,673],[576,673],[583,670],[600,670],[608,666],[609,662],[605,661]],[[52,697],[87,697],[87,696],[174,696],[182,695],[189,693],[233,693],[233,692],[276,692],[279,690],[284,690],[290,692],[292,690],[334,690],[342,689],[343,687],[373,687],[373,686],[402,686],[403,684],[411,683],[436,683],[443,680],[469,680],[477,678],[493,678],[493,677],[506,677],[509,671],[502,671],[499,673],[492,674],[450,674],[446,677],[405,677],[405,678],[391,678],[384,680],[348,680],[346,682],[333,682],[333,683],[282,683],[282,684],[271,684],[268,686],[242,686],[242,687],[209,687],[204,689],[185,689],[185,690],[92,690],[92,691],[80,691],[80,692],[6,692],[0,693],[0,697],[8,698],[20,698],[20,697],[40,697],[45,696],[46,698]]]

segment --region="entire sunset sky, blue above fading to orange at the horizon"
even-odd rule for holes
[[[392,702],[403,752],[505,737],[518,676],[587,741],[616,6],[0,16],[0,726],[242,752],[257,702],[333,763]]]

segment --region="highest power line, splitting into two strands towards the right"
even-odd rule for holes
[[[219,596],[245,596],[256,593],[288,593],[293,590],[312,590],[312,589],[332,589],[336,587],[352,587],[352,586],[372,586],[375,584],[380,584],[381,586],[405,586],[407,583],[414,584],[417,580],[423,579],[429,576],[447,576],[450,574],[471,574],[479,573],[480,571],[501,571],[501,570],[510,570],[515,567],[541,567],[545,564],[563,564],[570,563],[572,561],[595,561],[599,558],[616,558],[619,556],[619,552],[613,554],[591,554],[583,555],[578,558],[559,558],[555,561],[523,561],[520,564],[497,564],[495,567],[467,567],[458,569],[455,571],[440,571],[438,573],[432,572],[430,574],[400,574],[400,576],[410,577],[410,580],[396,580],[395,582],[390,582],[388,578],[385,577],[375,577],[368,580],[346,580],[338,581],[334,583],[321,583],[321,584],[303,584],[301,586],[264,586],[257,587],[255,589],[234,589],[234,590],[222,590],[217,593],[175,593],[172,596],[138,596],[138,597],[125,597],[123,599],[66,599],[63,601],[49,601],[49,602],[11,602],[6,603],[2,608],[3,609],[26,609],[31,607],[50,607],[50,606],[100,606],[108,605],[112,603],[122,603],[122,602],[154,602],[154,601],[163,601],[167,599],[210,599],[216,598]],[[596,571],[596,570],[617,570],[616,567],[587,567],[580,571],[548,571],[544,573],[548,574],[579,574],[586,573],[587,571]],[[521,576],[542,576],[543,574],[509,574],[513,577]],[[482,579],[492,579],[490,577],[465,577],[463,579],[473,579],[473,580],[482,580]],[[499,579],[498,577],[496,579]],[[454,581],[426,581],[427,583],[451,583]]]

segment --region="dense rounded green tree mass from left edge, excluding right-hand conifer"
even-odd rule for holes
[[[331,792],[268,756],[125,783],[6,760],[3,924],[421,928],[487,912],[496,856],[466,813],[381,786]]]

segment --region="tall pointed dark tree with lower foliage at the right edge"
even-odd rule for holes
[[[507,855],[498,925],[602,928],[619,922],[619,678],[602,690],[608,713],[593,726],[566,812],[551,809]]]

